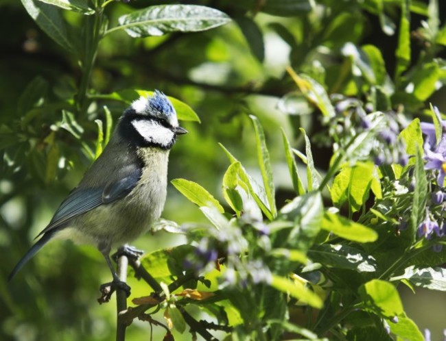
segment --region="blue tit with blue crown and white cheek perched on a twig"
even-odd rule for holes
[[[167,195],[169,151],[178,125],[172,102],[159,90],[133,101],[119,118],[110,141],[62,201],[40,238],[10,273],[16,273],[54,238],[93,244],[104,255],[113,281],[103,286],[130,287],[119,280],[110,260],[114,247],[131,242],[158,220]],[[102,290],[102,289],[101,289]]]

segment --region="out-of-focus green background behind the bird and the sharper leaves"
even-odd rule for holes
[[[106,16],[113,27],[119,16],[134,9],[167,3],[175,2],[115,1],[106,7]],[[104,124],[106,120],[103,106],[114,121],[126,108],[106,94],[156,88],[190,105],[201,123],[183,123],[189,134],[172,150],[169,179],[196,181],[218,199],[228,166],[218,142],[244,166],[255,167],[255,138],[248,118],[255,114],[266,132],[278,207],[294,197],[289,177],[281,176],[287,166],[280,128],[298,149],[303,149],[298,127],[305,128],[322,172],[332,143],[321,113],[298,89],[287,66],[313,77],[329,94],[356,97],[373,110],[399,110],[411,118],[423,116],[429,101],[441,111],[446,109],[441,88],[446,81],[444,1],[181,3],[217,8],[233,21],[209,31],[161,37],[133,39],[123,31],[108,34],[99,44],[87,98],[76,108],[74,99],[83,77],[76,55],[82,59],[86,53],[81,44],[87,29],[84,16],[62,11],[77,52],[69,53],[36,25],[20,1],[0,1],[1,340],[114,338],[115,305],[96,303],[97,288],[109,280],[109,273],[95,249],[52,242],[12,283],[6,281],[15,262],[91,164],[97,141],[95,120]],[[255,175],[256,169],[250,173]],[[163,217],[178,223],[204,221],[201,212],[172,186]],[[152,251],[180,242],[184,242],[181,237],[161,231],[135,244]],[[136,294],[143,293],[136,280],[130,279],[130,286]],[[423,290],[418,293],[424,297]],[[412,293],[406,292],[408,314],[413,307],[410,316],[440,338],[446,308],[435,304],[444,303],[445,296],[429,294],[434,296],[412,303]],[[128,340],[149,336],[148,326],[142,323],[128,329]]]

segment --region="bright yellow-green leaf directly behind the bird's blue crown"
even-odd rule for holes
[[[112,92],[111,94],[107,94],[104,97],[115,99],[117,101],[122,101],[124,103],[127,103],[130,105],[132,101],[135,101],[139,99],[139,97],[148,97],[152,96],[154,94],[153,91],[147,91],[147,90],[132,90],[132,89],[126,89],[121,90],[117,92]],[[178,120],[180,121],[196,121],[200,123],[200,118],[194,112],[189,105],[186,103],[180,101],[179,99],[176,99],[174,97],[167,96],[169,101],[171,101],[172,105],[174,105],[176,116],[178,117]]]

